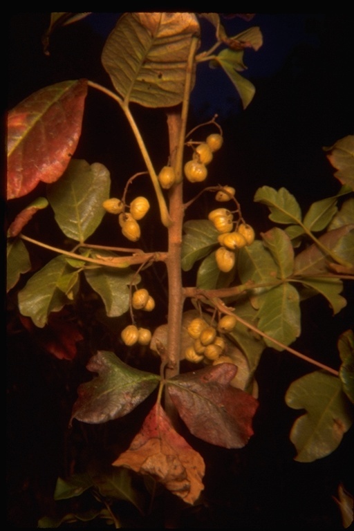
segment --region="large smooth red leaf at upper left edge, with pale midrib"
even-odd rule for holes
[[[87,81],[42,88],[8,113],[8,199],[54,183],[77,147]]]

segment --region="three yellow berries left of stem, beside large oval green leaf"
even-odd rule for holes
[[[124,212],[124,203],[120,199],[111,197],[102,203],[102,207],[110,214],[118,214],[118,221],[122,227],[122,234],[130,241],[140,238],[138,221],[142,219],[150,208],[146,197],[136,197],[129,205],[129,212]]]

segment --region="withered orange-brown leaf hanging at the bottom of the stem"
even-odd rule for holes
[[[178,435],[159,404],[151,409],[129,449],[113,465],[153,476],[186,503],[193,504],[204,488],[203,458]]]

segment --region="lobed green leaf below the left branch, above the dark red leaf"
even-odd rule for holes
[[[72,270],[66,259],[56,257],[37,271],[19,292],[21,314],[30,317],[39,328],[46,325],[50,312],[59,312],[70,302],[58,287],[65,274],[73,274],[77,279],[77,272]]]

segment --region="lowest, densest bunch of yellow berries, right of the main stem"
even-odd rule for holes
[[[189,362],[199,363],[209,360],[215,363],[225,354],[226,342],[218,333],[231,332],[236,326],[234,315],[224,315],[218,322],[217,328],[205,322],[201,317],[192,319],[187,326],[187,332],[194,344],[185,349],[185,359]]]

